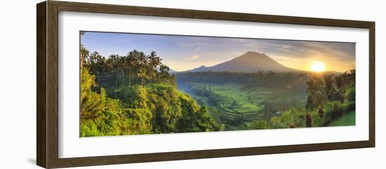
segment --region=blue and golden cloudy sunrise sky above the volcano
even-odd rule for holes
[[[314,61],[324,62],[326,71],[345,72],[355,67],[355,43],[345,42],[86,32],[81,44],[90,53],[98,51],[105,57],[126,55],[134,49],[148,55],[154,50],[175,71],[210,67],[248,51],[265,53],[293,69],[310,70]]]

